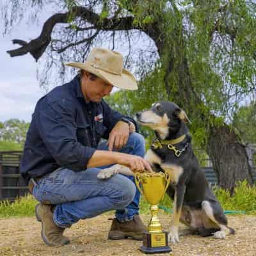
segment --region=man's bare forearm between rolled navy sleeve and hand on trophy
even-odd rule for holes
[[[87,168],[116,164],[118,157],[122,157],[122,153],[96,150],[88,161]]]

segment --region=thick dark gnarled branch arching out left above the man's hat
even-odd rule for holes
[[[51,33],[54,26],[58,23],[69,23],[70,17],[74,17],[74,19],[80,17],[81,19],[90,22],[95,29],[98,30],[110,31],[140,29],[134,26],[132,16],[100,19],[100,16],[97,13],[94,13],[83,6],[75,6],[70,12],[56,13],[47,19],[38,38],[35,38],[28,43],[19,39],[13,40],[13,44],[19,44],[22,46],[18,49],[7,51],[8,54],[10,54],[11,57],[16,57],[30,53],[37,61],[51,42]]]

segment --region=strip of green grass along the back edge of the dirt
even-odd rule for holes
[[[237,183],[234,196],[224,189],[215,188],[214,193],[225,210],[245,211],[246,214],[256,215],[256,186],[248,186],[246,181]],[[34,216],[35,205],[38,202],[31,195],[17,198],[12,204],[8,201],[0,202],[0,218]],[[167,195],[160,202],[167,209],[172,208],[172,201]],[[149,204],[141,196],[140,213],[150,214]]]

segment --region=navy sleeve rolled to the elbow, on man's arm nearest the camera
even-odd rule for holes
[[[77,141],[76,109],[58,100],[41,109],[37,118],[40,137],[56,163],[74,171],[86,169],[96,149]]]

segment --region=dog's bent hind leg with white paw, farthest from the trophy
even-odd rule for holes
[[[217,205],[212,205],[209,201],[205,200],[202,202],[202,209],[204,209],[209,219],[220,227],[219,231],[213,233],[214,237],[225,239],[227,235],[234,234],[234,230],[227,227],[227,218],[222,209],[218,207],[218,202],[216,204]],[[214,209],[214,206],[216,206],[217,209]]]

